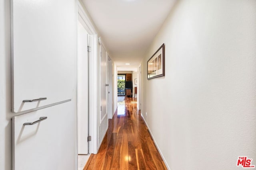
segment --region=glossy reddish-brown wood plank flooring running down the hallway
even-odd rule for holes
[[[98,154],[84,170],[167,170],[136,106],[136,98],[118,102]]]

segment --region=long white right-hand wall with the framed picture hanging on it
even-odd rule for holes
[[[162,43],[166,76],[147,80]],[[178,1],[142,61],[142,87],[171,170],[242,169],[238,156],[256,165],[256,1]]]

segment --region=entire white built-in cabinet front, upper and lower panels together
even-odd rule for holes
[[[11,2],[12,169],[74,170],[77,1]]]

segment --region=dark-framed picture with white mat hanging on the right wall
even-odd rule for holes
[[[147,78],[164,76],[164,44],[152,55],[147,63]]]

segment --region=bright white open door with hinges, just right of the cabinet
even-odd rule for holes
[[[88,33],[78,21],[78,154],[88,154]]]

